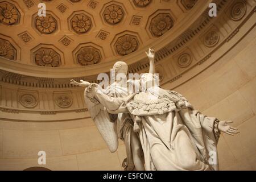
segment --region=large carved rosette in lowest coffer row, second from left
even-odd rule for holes
[[[59,67],[60,55],[51,48],[40,48],[34,52],[35,63],[43,67]]]

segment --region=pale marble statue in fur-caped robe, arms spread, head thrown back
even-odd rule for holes
[[[100,85],[82,82],[85,102],[92,103],[88,104],[88,109],[100,110],[96,108],[104,106],[108,113],[129,113],[131,126],[139,137],[138,145],[143,150],[146,170],[218,170],[220,133],[234,135],[238,130],[229,125],[232,121],[208,117],[193,109],[181,94],[155,84],[158,76],[154,68],[154,49],[150,48],[147,56],[150,70],[139,78],[139,93],[112,97],[102,92]],[[103,116],[100,116],[101,122],[104,122]]]

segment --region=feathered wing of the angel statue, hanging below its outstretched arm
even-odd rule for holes
[[[118,147],[118,135],[115,130],[115,123],[111,122],[109,113],[100,102],[94,98],[86,97],[86,95],[84,98],[88,111],[98,131],[100,131],[102,138],[108,145],[110,152],[115,152]]]

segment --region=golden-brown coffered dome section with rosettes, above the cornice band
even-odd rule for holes
[[[46,4],[46,16],[38,16],[40,2]],[[117,60],[132,64],[146,58],[148,47],[164,46],[164,36],[188,22],[196,3],[201,2],[0,1],[0,56],[23,75],[64,78],[108,72]]]

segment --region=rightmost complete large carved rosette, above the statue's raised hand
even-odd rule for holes
[[[160,13],[152,18],[150,23],[150,32],[153,36],[159,37],[174,26],[174,20],[168,13]]]

